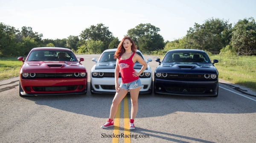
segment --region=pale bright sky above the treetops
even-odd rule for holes
[[[0,0],[0,22],[32,27],[43,39],[79,36],[103,23],[121,40],[140,23],[160,28],[164,40],[186,36],[195,23],[209,18],[256,19],[256,0]]]

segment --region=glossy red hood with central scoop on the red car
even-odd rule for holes
[[[85,68],[79,62],[64,62],[64,61],[30,61],[24,64],[24,70],[79,70],[77,72],[84,71]]]

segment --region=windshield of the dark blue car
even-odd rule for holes
[[[197,62],[211,63],[209,56],[206,53],[189,53],[189,52],[169,52],[163,58],[163,62]]]

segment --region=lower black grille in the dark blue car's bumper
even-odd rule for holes
[[[166,91],[172,93],[204,93],[206,88],[167,87]]]

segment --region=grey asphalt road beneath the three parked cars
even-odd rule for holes
[[[99,55],[84,58],[87,72]],[[157,56],[151,69],[157,67]],[[218,63],[217,63],[218,64]],[[221,73],[220,73],[221,74]],[[0,81],[0,143],[111,143],[107,121],[114,94],[20,97],[19,78]],[[220,80],[217,98],[204,96],[139,95],[139,110],[131,143],[256,143],[256,93]],[[88,77],[90,85],[90,74]],[[119,143],[128,142],[120,104]],[[128,95],[130,114],[131,102]],[[116,140],[116,138],[114,138]],[[118,140],[117,140],[118,141]]]

